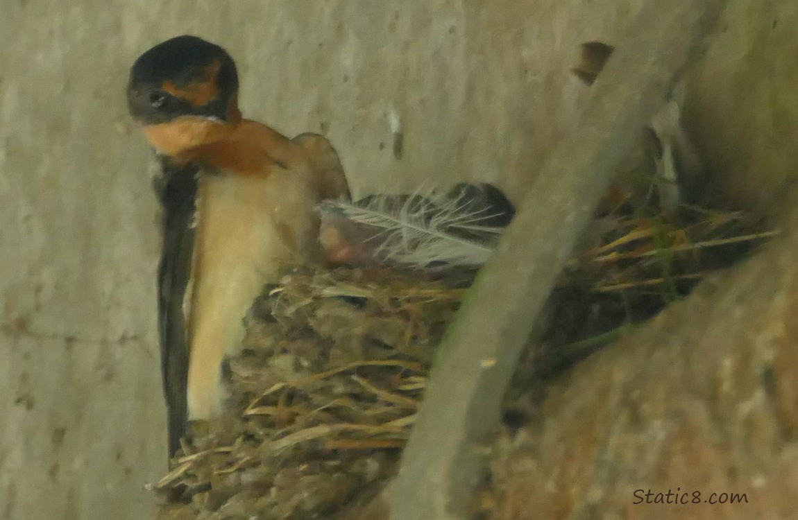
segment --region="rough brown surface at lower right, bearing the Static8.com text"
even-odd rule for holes
[[[497,450],[491,518],[796,518],[796,253],[792,231],[553,385]]]

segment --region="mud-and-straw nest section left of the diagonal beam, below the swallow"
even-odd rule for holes
[[[462,287],[360,270],[268,288],[231,360],[235,412],[207,424],[153,487],[162,518],[314,518],[393,474]]]

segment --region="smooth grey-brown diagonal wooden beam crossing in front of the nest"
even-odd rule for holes
[[[543,163],[496,254],[440,345],[401,462],[392,520],[467,518],[500,402],[555,278],[637,132],[713,27],[725,0],[649,0],[574,131]]]

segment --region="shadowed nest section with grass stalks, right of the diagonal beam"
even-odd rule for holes
[[[777,233],[743,211],[680,207],[666,214],[633,202],[595,219],[583,250],[561,274],[539,343],[519,364],[516,395],[558,376]]]

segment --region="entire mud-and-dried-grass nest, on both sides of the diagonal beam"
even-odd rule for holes
[[[773,233],[737,212],[627,207],[597,219],[516,387],[567,367]],[[161,518],[331,518],[376,493],[396,469],[468,279],[338,269],[297,271],[268,288],[230,362],[231,415],[196,431],[153,485],[172,498]]]

